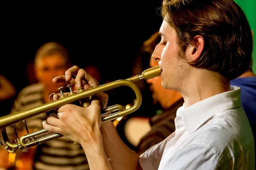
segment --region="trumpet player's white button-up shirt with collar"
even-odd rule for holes
[[[177,110],[175,132],[140,156],[144,170],[255,169],[253,134],[241,89]]]

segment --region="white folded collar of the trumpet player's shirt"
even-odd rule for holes
[[[241,106],[241,89],[237,86],[230,86],[231,91],[204,99],[187,108],[181,107],[177,110],[177,116],[180,115],[183,125],[189,134],[195,132],[201,125],[215,114]]]

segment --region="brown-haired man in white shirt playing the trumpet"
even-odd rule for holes
[[[174,133],[137,156],[113,123],[101,125],[100,101],[104,107],[108,102],[103,92],[86,108],[60,107],[58,118],[49,117],[44,128],[81,144],[92,170],[254,169],[253,134],[240,88],[230,86],[250,67],[252,34],[243,11],[233,0],[163,0],[161,14],[161,42],[152,59],[163,70],[163,88],[184,98]],[[52,81],[87,90],[99,86],[77,66]]]

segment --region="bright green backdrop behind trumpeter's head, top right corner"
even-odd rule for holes
[[[256,73],[256,0],[235,0],[243,9],[253,30],[253,71]]]

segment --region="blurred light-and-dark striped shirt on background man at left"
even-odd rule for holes
[[[23,88],[15,99],[11,113],[44,104],[43,91],[44,87],[40,83]],[[53,112],[55,111],[53,110]],[[26,119],[29,132],[43,129],[42,122],[49,114],[41,113],[38,116]],[[23,122],[18,122],[16,128],[18,130],[23,128],[24,130]],[[6,129],[7,133],[14,133],[12,127]],[[9,139],[11,140],[11,138]],[[37,146],[33,170],[89,170],[89,165],[81,145],[74,145],[73,141],[63,136]]]

